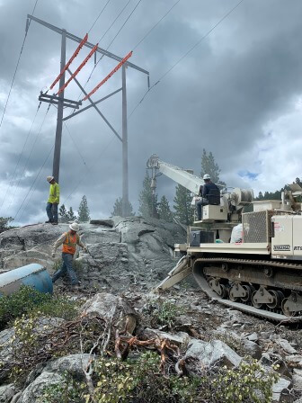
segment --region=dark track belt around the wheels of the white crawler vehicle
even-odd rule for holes
[[[275,262],[275,261],[267,261],[267,260],[247,260],[247,259],[233,259],[233,258],[225,258],[225,257],[200,257],[194,261],[194,265],[196,262],[203,262],[203,263],[215,263],[215,262],[223,262],[223,263],[235,263],[235,264],[253,264],[253,265],[270,265],[273,267],[280,267],[280,268],[290,268],[290,269],[297,269],[302,270],[301,264],[289,264],[283,262]],[[245,305],[240,302],[233,302],[231,300],[224,300],[218,296],[218,294],[213,291],[206,280],[206,278],[202,275],[199,276],[199,280],[196,279],[197,282],[200,284],[202,291],[205,291],[206,294],[213,300],[217,300],[223,305],[227,307],[235,308],[241,310],[245,313],[252,314],[258,318],[266,318],[277,322],[284,322],[284,323],[297,323],[302,322],[302,317],[292,317],[289,318],[286,315],[282,315],[275,312],[270,312],[268,310],[257,309],[250,305]],[[290,288],[293,289],[292,287]],[[213,295],[215,293],[215,295]]]

